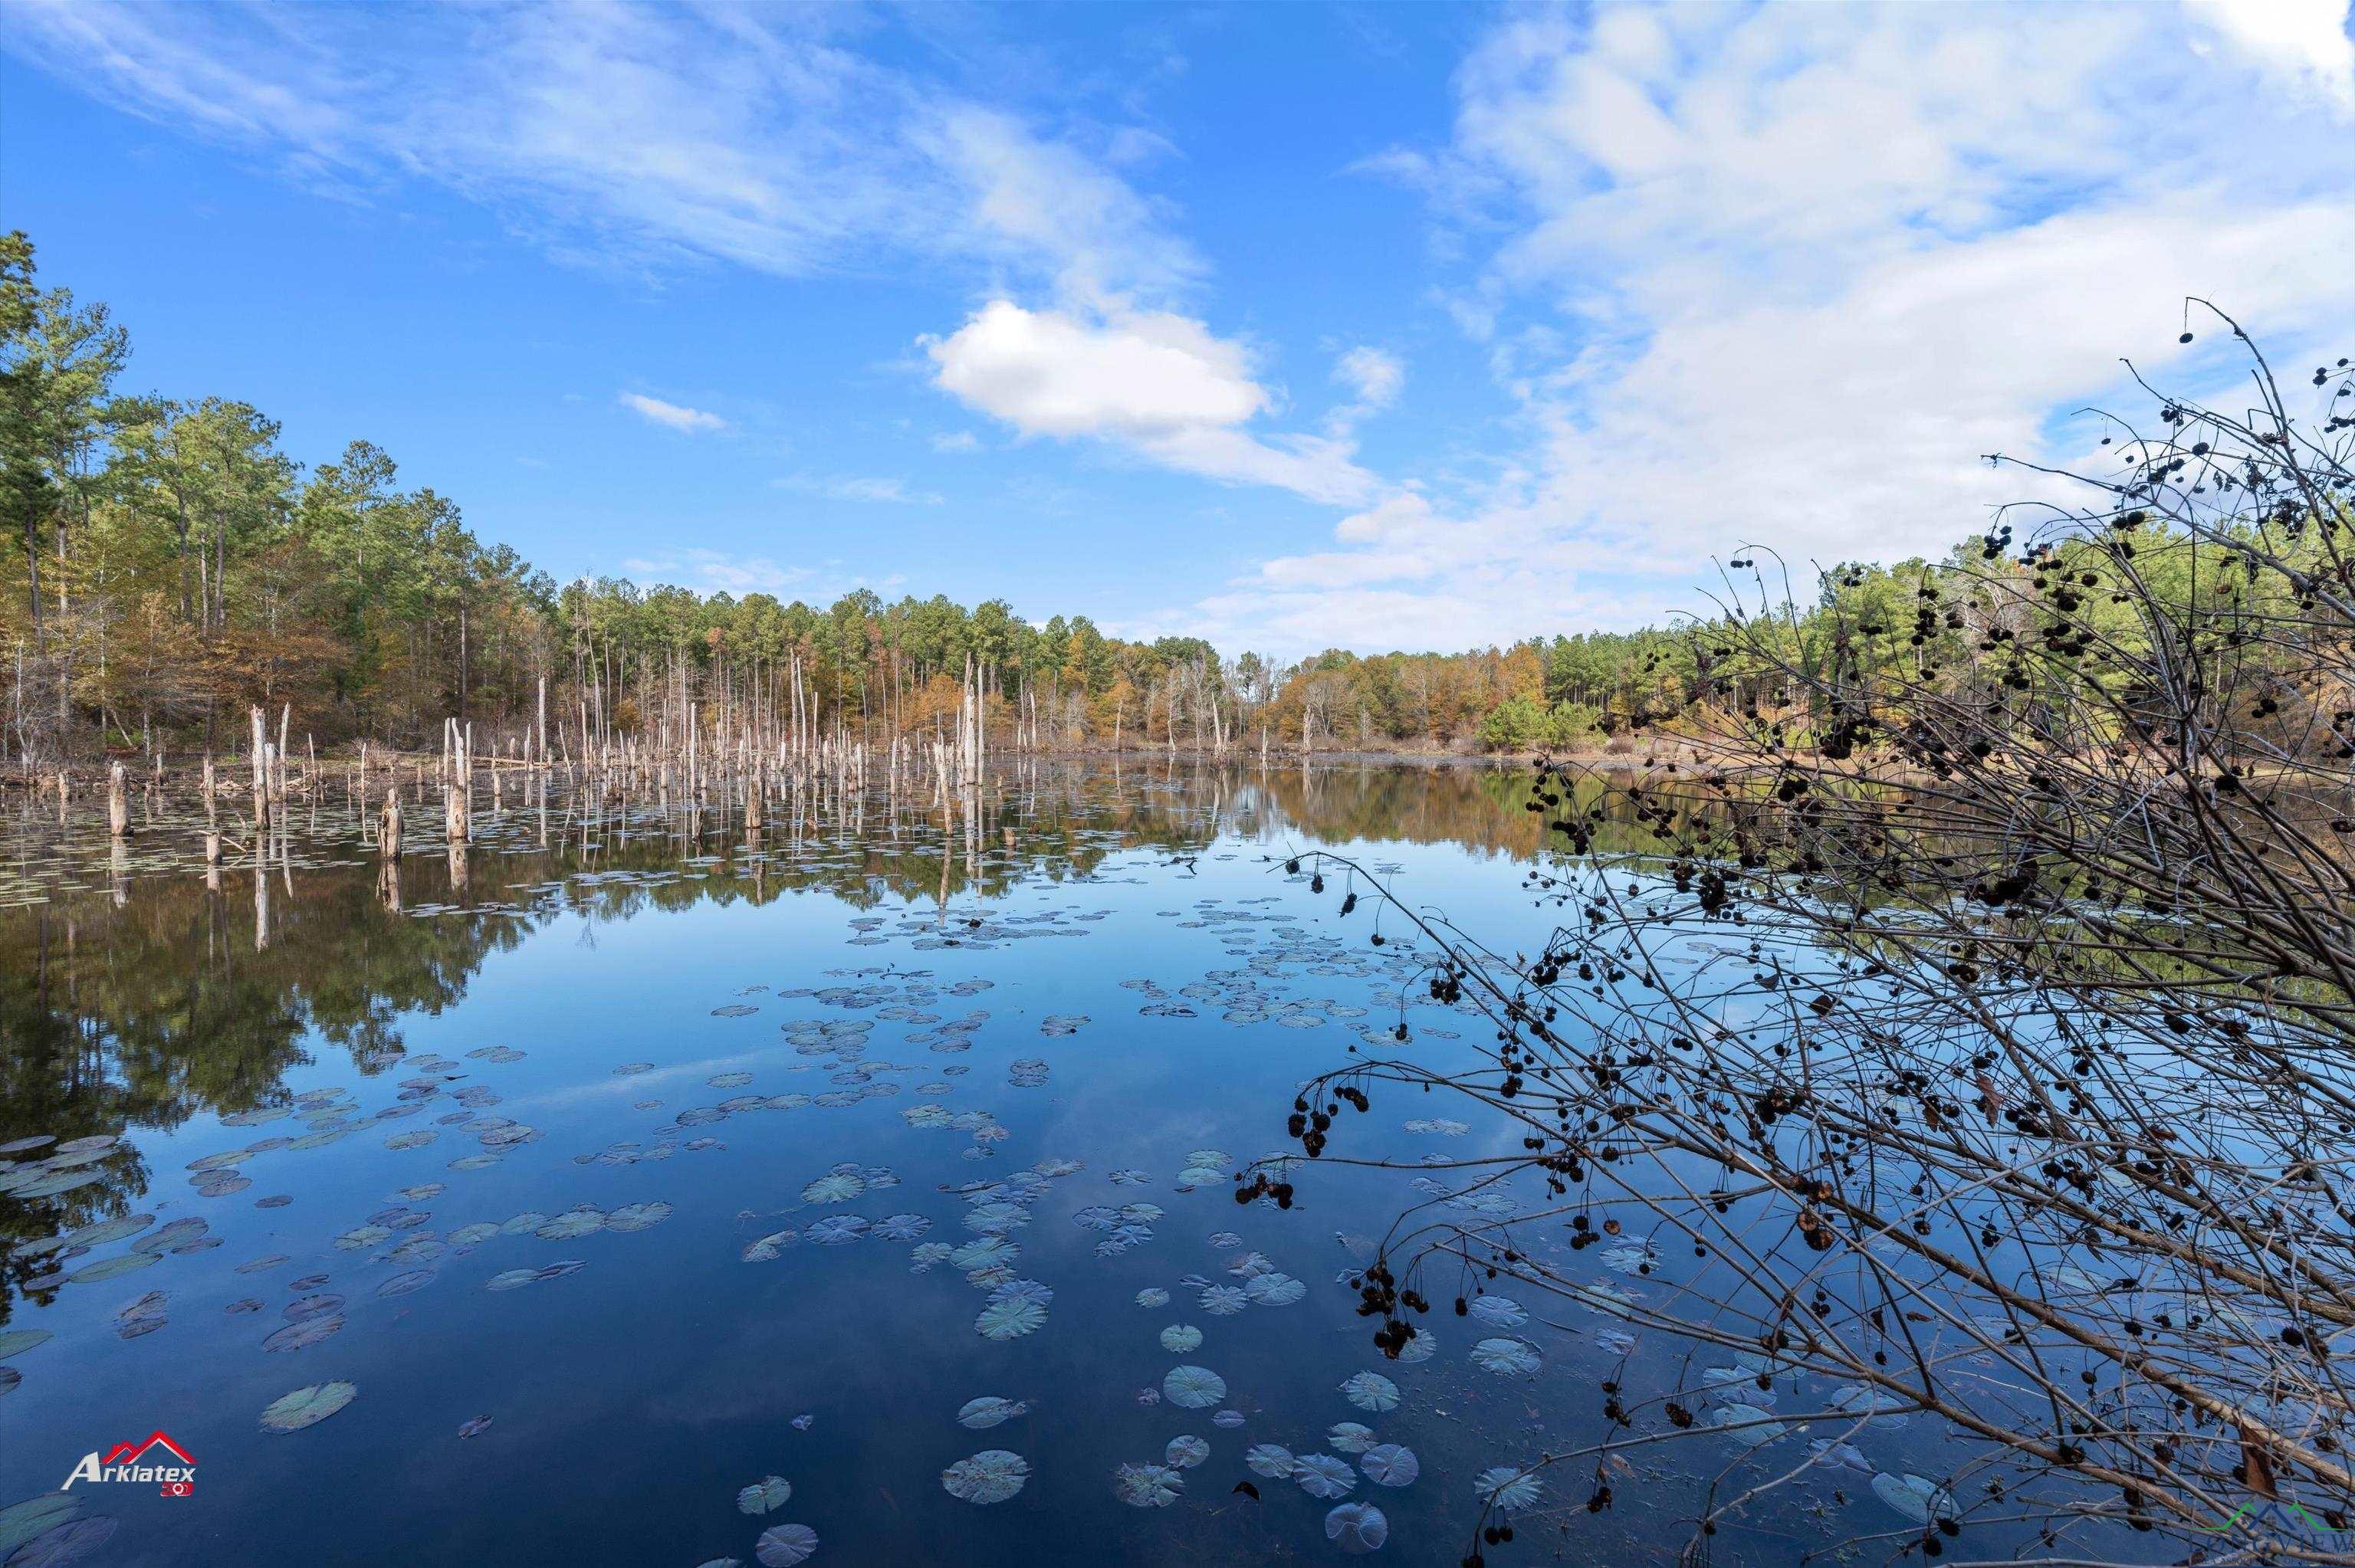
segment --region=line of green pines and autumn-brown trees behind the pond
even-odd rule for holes
[[[1717,614],[1679,626],[1300,662],[1126,640],[1086,614],[1031,622],[996,598],[558,584],[476,537],[450,497],[403,487],[365,440],[301,464],[254,405],[130,391],[127,370],[111,311],[42,287],[31,240],[0,235],[0,680],[19,768],[231,751],[250,704],[290,706],[318,744],[433,744],[450,718],[497,744],[546,711],[579,751],[789,704],[888,739],[954,723],[968,664],[999,744],[1027,749],[1625,751],[1724,690],[1799,699],[1754,657],[1759,636],[1778,662],[1856,683],[1945,671],[2016,699],[2039,624],[2037,570],[1992,534],[1943,560],[1809,570],[1804,591],[1736,558]],[[2164,570],[2230,596],[2225,553],[2176,537]],[[2082,574],[2098,596],[2098,565]],[[2127,617],[2117,633],[2136,636]]]

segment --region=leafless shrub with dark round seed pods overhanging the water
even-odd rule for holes
[[[1493,1038],[1451,1062],[1401,1010],[1397,1052],[1298,1097],[1305,1156],[1382,1163],[1342,1130],[1392,1083],[1519,1132],[1415,1168],[1441,1189],[1359,1278],[1375,1342],[1512,1281],[1667,1344],[1533,1462],[1583,1476],[1571,1507],[1611,1507],[1627,1450],[1754,1443],[1696,1481],[1700,1559],[1926,1413],[1955,1462],[1872,1479],[1910,1521],[1889,1549],[2355,1561],[2355,374],[2317,370],[2298,421],[2249,353],[2247,412],[2112,421],[2120,469],[2054,476],[2077,499],[1999,518],[1912,626],[1802,645],[1790,584],[1736,558],[1691,629],[1700,768],[1538,772],[1564,855],[1533,956],[1319,857]],[[1505,1500],[1479,1533],[1465,1563]]]

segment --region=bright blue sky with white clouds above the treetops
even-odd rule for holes
[[[7,0],[0,221],[558,574],[1462,647],[2355,327],[2343,0]]]

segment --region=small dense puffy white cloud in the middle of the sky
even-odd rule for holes
[[[942,391],[1022,436],[1097,438],[1166,469],[1314,501],[1347,504],[1375,487],[1347,440],[1246,431],[1272,396],[1239,344],[1187,315],[994,299],[921,346]]]

